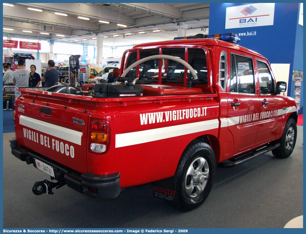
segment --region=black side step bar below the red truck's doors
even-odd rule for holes
[[[221,163],[218,163],[217,166],[219,168],[231,168],[231,167],[234,167],[238,164],[241,164],[243,162],[246,162],[252,158],[255,158],[259,155],[262,155],[264,153],[267,153],[269,151],[271,151],[272,149],[276,149],[280,146],[280,143],[275,143],[275,144],[268,144],[264,147],[260,147],[258,150],[253,150],[251,153],[245,153],[245,154],[242,154],[242,155],[239,155],[237,157],[234,157],[234,158],[231,158],[229,160],[231,160],[231,162],[221,162]]]

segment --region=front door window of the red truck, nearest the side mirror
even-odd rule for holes
[[[273,79],[266,63],[257,60],[260,95],[274,93]]]

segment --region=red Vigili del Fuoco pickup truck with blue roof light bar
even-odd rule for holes
[[[154,183],[155,197],[191,210],[211,191],[215,167],[272,150],[287,158],[297,107],[262,55],[235,34],[140,44],[125,51],[114,83],[20,89],[12,153],[65,184],[115,198]],[[230,41],[230,42],[228,42]]]

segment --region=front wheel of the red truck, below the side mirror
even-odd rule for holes
[[[279,143],[281,144],[278,148],[272,150],[272,154],[278,158],[288,158],[295,146],[297,141],[297,123],[294,119],[289,118],[282,138]]]

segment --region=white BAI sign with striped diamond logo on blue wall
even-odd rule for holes
[[[254,3],[226,8],[225,29],[273,25],[275,3]]]

